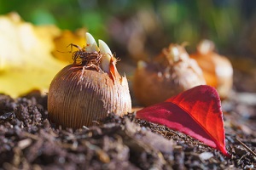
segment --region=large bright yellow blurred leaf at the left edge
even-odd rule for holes
[[[55,26],[33,26],[15,13],[0,16],[0,93],[14,98],[33,89],[47,93],[67,65],[51,54],[60,34]]]

